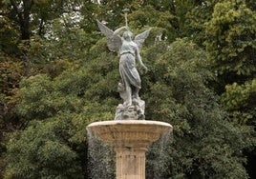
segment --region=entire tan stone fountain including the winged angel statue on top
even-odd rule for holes
[[[104,142],[114,145],[117,155],[117,179],[145,179],[145,152],[149,145],[172,130],[168,123],[144,120],[145,102],[139,98],[141,82],[135,61],[145,72],[139,50],[149,34],[145,30],[132,40],[132,32],[127,25],[115,31],[97,21],[101,32],[107,37],[109,50],[119,54],[121,82],[117,89],[123,103],[117,106],[114,121],[90,124],[87,130]],[[119,33],[123,32],[122,37]]]

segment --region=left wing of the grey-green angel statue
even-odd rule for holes
[[[114,31],[110,30],[104,24],[96,20],[97,26],[101,33],[107,37],[107,46],[111,51],[118,51],[121,47],[121,37],[119,35],[114,35]]]

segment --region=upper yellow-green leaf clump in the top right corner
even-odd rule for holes
[[[207,23],[206,46],[220,74],[255,74],[255,22],[256,13],[245,1],[216,4],[212,19]]]

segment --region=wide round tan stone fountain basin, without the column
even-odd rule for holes
[[[90,124],[87,129],[99,139],[117,147],[147,148],[160,135],[172,130],[168,123],[159,121],[101,121]]]

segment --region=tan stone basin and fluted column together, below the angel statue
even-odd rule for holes
[[[87,127],[99,139],[113,144],[117,154],[117,179],[145,179],[145,152],[172,126],[159,121],[102,121]]]

